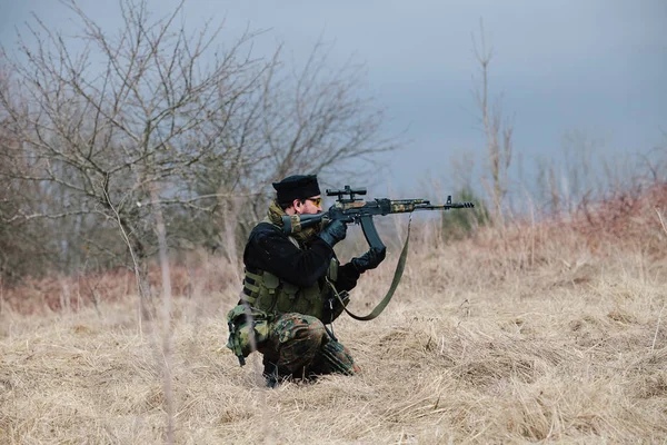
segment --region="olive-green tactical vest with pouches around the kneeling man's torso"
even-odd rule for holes
[[[299,247],[299,244],[290,237]],[[312,286],[298,287],[287,283],[266,270],[245,269],[243,291],[241,299],[250,306],[267,314],[299,313],[322,318],[322,309],[328,301],[331,289],[322,277]],[[338,260],[331,258],[327,277],[336,285],[338,278]]]

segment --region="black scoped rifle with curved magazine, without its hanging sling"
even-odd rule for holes
[[[296,234],[319,222],[341,220],[347,224],[359,224],[370,247],[386,248],[372,220],[374,216],[407,214],[416,210],[449,210],[456,208],[474,208],[472,202],[452,202],[451,196],[446,204],[432,205],[428,199],[388,199],[376,198],[365,201],[356,195],[366,195],[366,188],[327,189],[327,196],[337,196],[336,204],[328,211],[316,215],[292,215],[282,217],[282,227],[287,235]]]

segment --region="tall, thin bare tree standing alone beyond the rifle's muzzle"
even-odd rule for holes
[[[511,164],[514,126],[504,119],[501,100],[498,99],[494,102],[489,100],[489,63],[494,56],[494,49],[487,48],[481,21],[479,22],[479,44],[472,34],[475,57],[481,73],[481,79],[475,88],[475,99],[487,146],[486,160],[490,184],[487,179],[486,186],[494,200],[494,216],[499,219],[502,217],[502,201],[508,190],[507,172]]]

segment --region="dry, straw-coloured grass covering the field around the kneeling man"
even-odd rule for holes
[[[620,235],[575,217],[445,246],[416,227],[386,313],[335,326],[364,373],[311,385],[267,389],[259,357],[240,368],[225,348],[238,286],[210,284],[233,283],[236,266],[209,266],[176,298],[169,359],[132,298],[43,315],[6,305],[0,443],[162,443],[172,411],[181,444],[663,444],[666,210],[637,210]],[[396,256],[364,277],[354,312],[381,297]]]

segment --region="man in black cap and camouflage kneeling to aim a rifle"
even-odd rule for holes
[[[386,249],[371,248],[339,265],[334,246],[346,237],[345,222],[335,220],[291,235],[282,227],[285,215],[322,211],[317,177],[290,176],[273,182],[273,188],[276,200],[250,233],[243,251],[243,290],[239,306],[228,316],[228,347],[237,353],[241,364],[241,352],[243,357],[252,350],[261,353],[263,374],[271,387],[288,377],[355,375],[359,366],[326,327],[344,309],[334,288],[347,305],[348,291],[361,274],[385,259]],[[252,328],[248,329],[248,325]],[[235,337],[235,333],[250,335]]]

